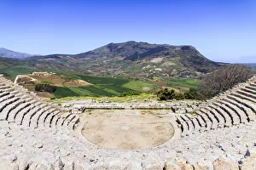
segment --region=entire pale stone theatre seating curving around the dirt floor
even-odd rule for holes
[[[176,114],[175,137],[145,150],[84,139],[82,116],[0,77],[0,169],[256,169],[256,77]]]

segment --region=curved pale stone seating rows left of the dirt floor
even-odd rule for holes
[[[70,133],[79,124],[79,116],[63,112],[32,94],[15,88],[11,82],[1,77],[0,82],[0,120],[15,122],[25,127],[50,129],[55,132]],[[5,81],[3,81],[5,80]]]

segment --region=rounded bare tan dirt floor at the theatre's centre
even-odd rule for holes
[[[96,110],[84,114],[82,133],[104,148],[140,150],[164,144],[174,128],[167,111]]]

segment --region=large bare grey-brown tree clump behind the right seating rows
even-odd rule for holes
[[[239,82],[246,82],[253,77],[253,69],[246,65],[226,65],[202,78],[199,85],[199,96],[208,99],[216,94],[233,88]]]

